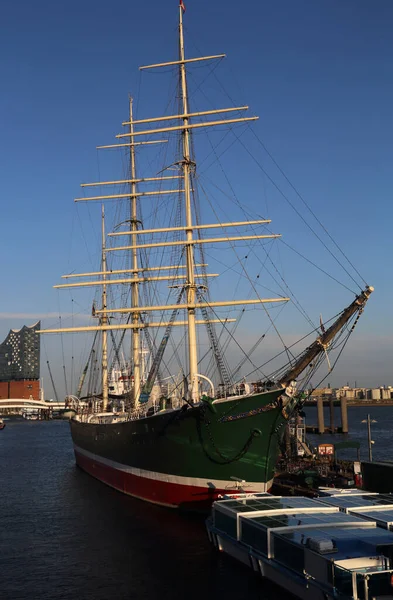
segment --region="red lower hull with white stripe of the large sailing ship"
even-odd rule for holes
[[[221,494],[239,491],[262,492],[271,487],[271,482],[268,485],[257,483],[243,485],[242,490],[240,490],[236,488],[233,481],[219,480],[217,480],[217,486],[212,486],[212,482],[208,482],[208,480],[163,475],[133,469],[124,465],[122,465],[122,468],[116,468],[112,465],[117,463],[96,457],[91,452],[81,450],[77,446],[74,447],[74,451],[77,464],[96,479],[124,494],[164,506],[177,507],[184,505],[191,508],[192,506],[211,503]],[[133,471],[137,471],[138,474],[134,474]],[[161,477],[157,478],[156,475],[161,475]],[[180,480],[183,480],[184,483],[180,483]],[[185,483],[186,481],[188,483]],[[203,481],[204,484],[196,483]]]

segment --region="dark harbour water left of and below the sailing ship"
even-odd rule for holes
[[[214,553],[201,515],[124,496],[75,466],[68,423],[0,434],[2,600],[285,598]]]

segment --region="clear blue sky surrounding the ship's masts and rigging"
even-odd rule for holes
[[[188,55],[227,53],[215,73],[231,100],[249,104],[260,116],[258,137],[376,288],[332,383],[393,384],[392,2],[188,0],[186,7]],[[130,92],[141,91],[140,118],[161,112],[157,87],[164,100],[168,90],[163,77],[141,76],[138,67],[176,57],[176,25],[176,0],[3,4],[2,338],[36,316],[52,315],[45,319],[52,325],[59,306],[63,310],[52,285],[62,273],[88,266],[78,260],[84,250],[81,227],[90,240],[96,213],[76,208],[73,198],[82,181],[97,180],[104,169],[95,146],[112,143],[120,132]],[[196,80],[204,78],[201,73]],[[217,106],[228,105],[215,76],[206,85]],[[196,94],[195,102],[204,109],[202,96]],[[250,148],[302,208],[262,148],[255,143]],[[244,183],[247,155],[237,169],[234,160],[228,155],[237,194],[252,197],[256,188]],[[311,249],[319,264],[350,284],[322,246],[307,237],[304,224],[266,176],[259,171],[257,177],[252,185],[274,228],[305,254]],[[323,282],[318,272],[295,267],[290,258],[286,269],[314,320],[352,299],[340,286]],[[304,322],[285,324],[290,335],[305,331]],[[67,344],[66,353],[76,357],[80,343]],[[59,338],[46,338],[42,354],[42,375],[48,379],[50,356],[59,389],[60,346]]]

